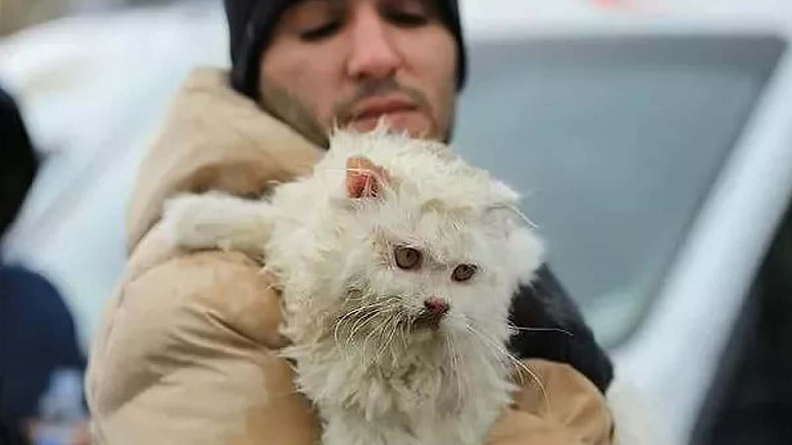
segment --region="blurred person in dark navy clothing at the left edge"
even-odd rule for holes
[[[38,169],[16,103],[0,89],[2,236]],[[0,238],[2,239],[2,238]],[[82,397],[86,359],[58,290],[21,265],[0,267],[0,443],[88,443]]]

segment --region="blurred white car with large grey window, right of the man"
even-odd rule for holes
[[[792,203],[789,36],[611,24],[501,30],[470,51],[460,149],[525,192],[611,352],[614,390],[659,443],[707,437],[727,345]]]

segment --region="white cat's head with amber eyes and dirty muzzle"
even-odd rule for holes
[[[516,192],[445,146],[383,132],[336,135],[318,169],[341,173],[326,253],[337,337],[374,349],[503,340],[512,295],[542,255]]]

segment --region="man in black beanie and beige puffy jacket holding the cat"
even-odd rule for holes
[[[451,138],[466,73],[456,2],[225,5],[230,74],[192,74],[140,169],[127,271],[90,359],[94,443],[315,443],[318,414],[277,356],[286,340],[272,277],[242,253],[174,252],[158,225],[162,203],[210,189],[260,196],[310,171],[335,126],[383,118],[413,137]],[[517,325],[573,336],[525,330],[513,340],[550,405],[518,381],[488,443],[611,443],[601,393],[610,362],[546,268],[513,313]]]

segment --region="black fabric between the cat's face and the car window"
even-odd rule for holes
[[[539,268],[531,286],[520,287],[509,318],[512,325],[528,328],[520,329],[509,340],[508,348],[517,358],[568,363],[600,391],[607,390],[613,379],[611,359],[597,344],[577,305],[546,265]],[[542,330],[530,330],[534,328]]]

